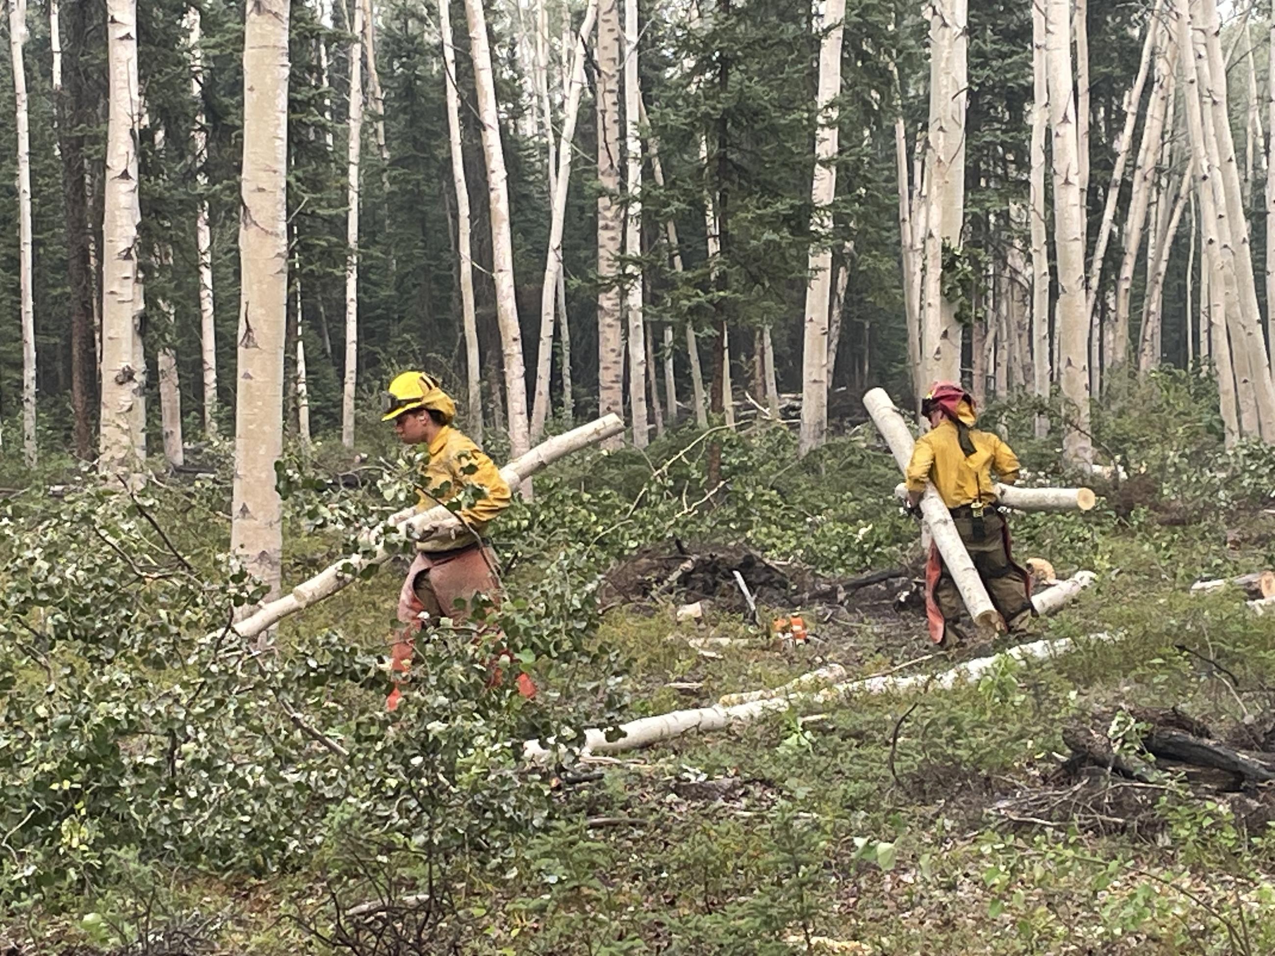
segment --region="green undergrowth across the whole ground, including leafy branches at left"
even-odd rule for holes
[[[1125,479],[1088,515],[1012,520],[1020,558],[1098,575],[1034,625],[1071,653],[538,769],[520,741],[917,656],[889,617],[782,649],[722,611],[696,625],[674,600],[597,597],[616,562],[676,543],[840,577],[905,562],[915,526],[871,427],[805,460],[782,428],[681,430],[537,477],[496,526],[507,598],[491,614],[506,674],[541,693],[488,687],[495,637],[458,631],[422,644],[394,715],[377,664],[405,548],[244,646],[227,622],[260,589],[226,558],[228,446],[203,450],[208,474],[134,497],[79,475],[50,498],[76,481],[51,465],[0,505],[0,941],[80,956],[1270,952],[1275,835],[1241,803],[1168,774],[1135,808],[1095,809],[1058,776],[1063,729],[1095,713],[1118,741],[1140,707],[1227,735],[1275,705],[1275,618],[1188,593],[1275,561],[1275,458],[1223,450],[1201,387],[1117,389],[1095,444]],[[1019,440],[1031,413],[986,421],[1031,481],[1063,481],[1056,438]],[[286,584],[411,500],[411,459],[370,451],[280,463]]]

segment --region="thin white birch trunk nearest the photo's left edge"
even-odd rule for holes
[[[55,20],[56,24],[56,20]],[[56,36],[56,33],[55,33]],[[9,0],[9,51],[13,55],[13,94],[18,131],[18,272],[22,298],[22,454],[36,467],[36,310],[32,300],[31,245],[31,127],[27,121],[27,0]],[[60,56],[60,55],[59,55]],[[59,69],[61,62],[59,59]],[[59,85],[61,79],[59,78]]]

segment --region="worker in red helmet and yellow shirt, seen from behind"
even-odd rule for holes
[[[1014,563],[1010,529],[996,505],[996,483],[1019,479],[1019,459],[1000,437],[975,428],[974,400],[959,385],[936,382],[921,405],[931,431],[917,440],[908,463],[908,503],[915,507],[932,482],[951,511],[987,594],[1010,631],[1021,630],[1035,613],[1031,579]],[[926,612],[935,642],[963,642],[956,623],[964,607],[960,591],[931,546],[926,565]]]

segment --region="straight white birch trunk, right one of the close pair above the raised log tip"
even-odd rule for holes
[[[835,1],[835,0],[834,0]],[[641,136],[638,134],[638,0],[625,0],[625,317],[629,321],[629,403],[632,409],[634,446],[646,447],[646,328],[643,322],[641,265]]]

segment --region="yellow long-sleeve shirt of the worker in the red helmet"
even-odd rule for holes
[[[975,501],[996,501],[992,473],[1005,484],[1019,479],[1019,459],[1001,438],[975,428],[969,431],[974,454],[961,451],[956,424],[942,421],[917,438],[908,463],[908,491],[924,491],[926,482],[935,483],[947,507],[960,507]]]

